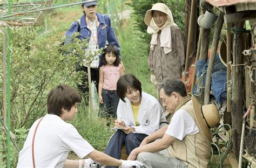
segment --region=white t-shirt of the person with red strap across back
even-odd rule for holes
[[[30,128],[17,167],[33,167],[32,138],[38,122],[39,119]],[[34,143],[36,167],[63,167],[70,151],[83,158],[93,150],[72,124],[57,115],[46,114],[38,126]]]

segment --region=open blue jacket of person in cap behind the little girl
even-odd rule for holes
[[[113,27],[111,25],[111,20],[109,16],[103,15],[101,13],[96,13],[98,17],[98,45],[99,48],[104,48],[106,46],[106,41],[110,45],[115,45],[118,48],[119,57],[120,55],[120,46],[117,41],[116,34],[114,34]],[[80,27],[80,30],[78,30]],[[66,31],[65,35],[71,37],[72,33],[80,32],[79,39],[86,39],[91,37],[91,30],[87,28],[87,24],[85,22],[85,14],[80,18],[80,26],[77,21],[75,21],[68,31]],[[70,39],[66,39],[66,41],[70,41]],[[103,55],[99,55],[99,66],[102,66],[102,57]]]

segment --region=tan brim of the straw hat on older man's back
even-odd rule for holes
[[[194,116],[196,117],[198,126],[200,130],[203,132],[205,138],[207,138],[208,141],[211,142],[211,130],[208,128],[207,123],[203,117],[203,114],[201,111],[201,104],[199,103],[199,101],[194,95],[192,95],[192,103],[193,103]]]

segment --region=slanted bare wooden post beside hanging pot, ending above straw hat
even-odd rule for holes
[[[206,74],[206,82],[205,82],[205,97],[204,97],[204,104],[209,104],[210,102],[210,90],[211,90],[211,82],[212,82],[212,70],[214,66],[215,56],[219,44],[219,38],[221,33],[221,28],[224,23],[224,13],[219,11],[219,17],[216,23],[215,32],[212,40],[212,50],[211,50],[211,57],[209,60],[207,74]]]

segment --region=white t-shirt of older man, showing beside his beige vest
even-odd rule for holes
[[[186,135],[194,135],[198,132],[198,125],[191,115],[188,114],[186,110],[179,109],[172,116],[171,122],[165,133],[182,141]]]

